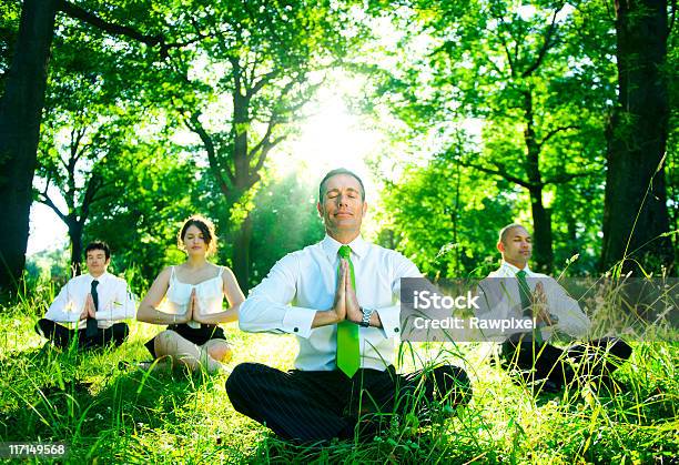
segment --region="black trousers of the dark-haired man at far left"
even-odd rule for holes
[[[50,340],[57,347],[65,348],[71,344],[71,341],[78,338],[79,348],[94,348],[103,347],[110,343],[116,346],[122,344],[128,338],[130,328],[125,323],[115,323],[105,330],[98,328],[94,336],[88,337],[85,330],[69,330],[51,320],[40,319],[36,323],[36,332]]]

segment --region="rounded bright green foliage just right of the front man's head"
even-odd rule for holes
[[[511,222],[515,198],[456,160],[437,156],[385,185],[381,243],[432,279],[487,274],[497,267],[497,231]]]

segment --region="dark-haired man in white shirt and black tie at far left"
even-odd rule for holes
[[[104,242],[85,247],[88,274],[75,276],[61,289],[36,331],[58,347],[68,347],[74,340],[79,348],[120,345],[129,328],[120,320],[133,319],[136,304],[125,280],[107,272],[111,250]],[[77,323],[69,328],[59,323]]]

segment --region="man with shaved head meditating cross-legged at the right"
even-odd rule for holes
[[[528,267],[533,237],[520,224],[499,232],[497,250],[503,263],[480,283],[495,317],[530,317],[537,328],[509,334],[500,356],[506,368],[520,371],[524,381],[538,383],[544,391],[559,391],[576,376],[608,384],[610,373],[629,358],[631,347],[621,340],[605,337],[560,350],[548,343],[556,333],[572,338],[587,335],[587,315],[558,282]]]

